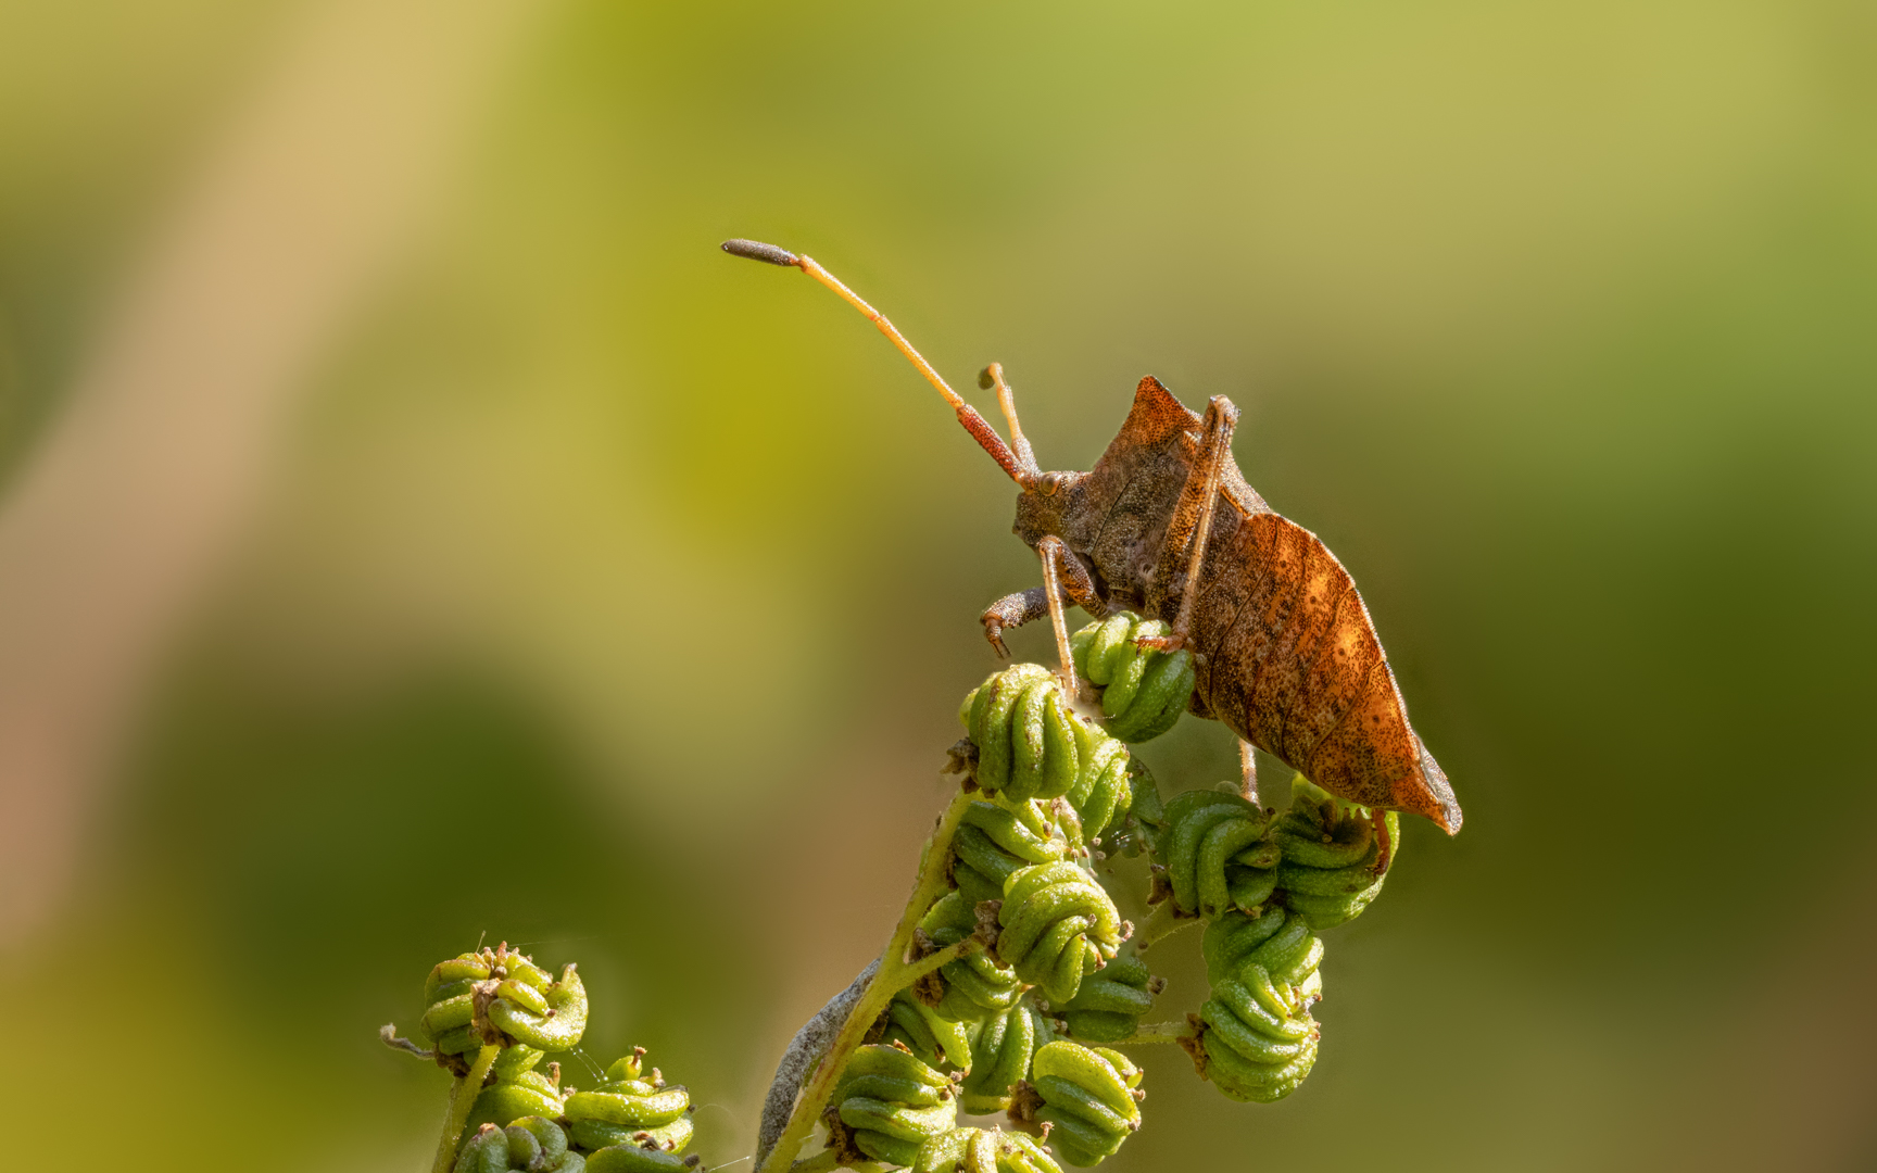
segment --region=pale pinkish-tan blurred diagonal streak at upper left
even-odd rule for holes
[[[295,396],[407,253],[544,6],[310,6],[158,223],[0,509],[0,933],[69,886],[169,638],[267,486]]]

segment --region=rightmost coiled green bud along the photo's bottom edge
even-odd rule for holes
[[[1049,1147],[1066,1164],[1098,1165],[1141,1126],[1141,1070],[1121,1051],[1055,1042],[1036,1051],[1032,1072],[1010,1115],[1049,1124]]]

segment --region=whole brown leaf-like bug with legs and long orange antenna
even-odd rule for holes
[[[1314,533],[1265,505],[1231,458],[1231,400],[1213,396],[1201,419],[1149,375],[1091,471],[1045,473],[997,364],[980,383],[997,388],[1008,445],[893,323],[813,259],[755,240],[723,250],[800,268],[865,313],[1023,490],[1015,533],[1042,557],[1044,586],[984,612],[999,653],[1004,629],[1044,616],[1055,617],[1066,653],[1059,589],[1096,617],[1126,608],[1166,619],[1171,632],[1151,644],[1192,649],[1192,711],[1239,736],[1246,786],[1256,745],[1338,798],[1425,815],[1449,835],[1460,830],[1460,803],[1408,724],[1350,572]]]

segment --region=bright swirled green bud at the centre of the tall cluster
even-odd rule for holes
[[[1066,861],[1010,873],[997,923],[1002,925],[997,955],[1059,1006],[1076,997],[1081,980],[1113,957],[1122,940],[1121,914],[1107,890]]]

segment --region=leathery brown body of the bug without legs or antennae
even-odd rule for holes
[[[1199,439],[1199,415],[1152,375],[1141,379],[1094,469],[1051,473],[1053,501],[1023,494],[1017,535],[1034,546],[1057,533],[1092,565],[1106,602],[1171,621],[1184,580],[1164,572],[1160,546]],[[1233,460],[1198,582],[1198,715],[1338,798],[1425,815],[1449,835],[1460,830],[1460,805],[1408,724],[1350,572],[1314,533],[1265,505]]]

